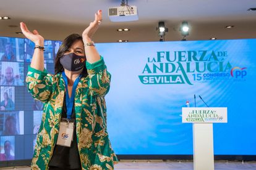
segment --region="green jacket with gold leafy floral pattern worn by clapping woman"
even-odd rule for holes
[[[86,63],[88,76],[81,78],[75,91],[75,120],[77,146],[82,169],[114,169],[117,157],[109,142],[106,124],[105,95],[109,91],[111,75],[103,58]],[[64,100],[65,83],[62,74],[51,75],[28,67],[28,91],[44,103],[43,116],[38,131],[32,169],[49,169],[58,139]]]

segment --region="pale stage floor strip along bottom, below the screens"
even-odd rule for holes
[[[28,170],[29,167],[10,167],[10,168],[0,168],[0,169],[18,169],[18,170]],[[137,160],[137,161],[120,161],[120,163],[115,165],[115,169],[130,170],[130,169],[143,169],[143,170],[193,170],[192,161],[147,161],[147,160]],[[252,170],[256,169],[256,162],[249,161],[242,163],[241,161],[215,161],[215,170]],[[207,170],[207,169],[206,169]]]

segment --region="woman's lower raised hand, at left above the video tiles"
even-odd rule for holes
[[[27,28],[27,25],[23,22],[20,23],[20,29],[22,30],[23,35],[27,39],[33,41],[36,46],[44,46],[45,39],[38,33],[38,31],[33,30],[32,32],[30,32]]]

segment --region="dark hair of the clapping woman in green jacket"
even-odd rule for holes
[[[64,68],[60,62],[61,57],[72,46],[72,44],[75,41],[79,41],[79,40],[83,42],[83,38],[82,36],[80,36],[80,34],[70,34],[69,36],[67,36],[67,38],[64,39],[55,57],[55,65],[54,65],[55,75],[64,71]],[[85,76],[85,77],[88,75],[87,68],[85,66],[83,67],[83,71],[81,74],[82,76]]]

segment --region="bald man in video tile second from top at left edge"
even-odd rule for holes
[[[2,86],[22,86],[23,83],[20,78],[14,77],[14,69],[12,67],[6,68],[6,76],[1,81]]]

